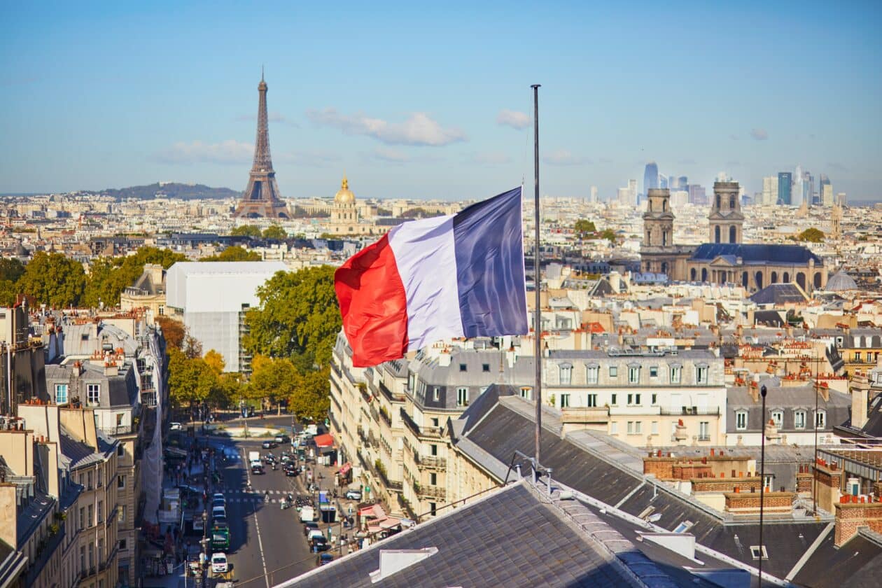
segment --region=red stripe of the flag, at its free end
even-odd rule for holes
[[[333,287],[353,366],[367,368],[404,357],[407,294],[387,235],[342,264],[334,272]]]

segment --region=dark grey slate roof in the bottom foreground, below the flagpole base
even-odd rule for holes
[[[590,532],[519,482],[445,517],[417,525],[282,586],[445,588],[447,586],[675,586],[600,517]],[[609,543],[609,545],[607,545]],[[371,584],[381,549],[437,547],[435,555]],[[609,551],[616,553],[614,560]]]

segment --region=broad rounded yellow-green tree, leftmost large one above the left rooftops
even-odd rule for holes
[[[86,287],[86,272],[82,264],[62,253],[37,251],[17,286],[41,304],[55,308],[75,306]]]

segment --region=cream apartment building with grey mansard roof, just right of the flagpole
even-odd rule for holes
[[[636,447],[725,443],[725,367],[714,350],[549,351],[543,371],[543,394],[569,429]]]

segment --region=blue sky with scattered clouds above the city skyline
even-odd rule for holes
[[[878,2],[30,4],[4,8],[0,192],[243,190],[263,64],[286,197],[531,183],[539,83],[542,193],[656,160],[882,199]]]

